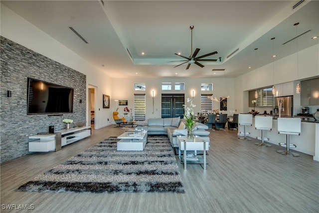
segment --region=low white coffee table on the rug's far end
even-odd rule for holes
[[[147,143],[148,131],[128,131],[118,137],[117,151],[143,151]]]

